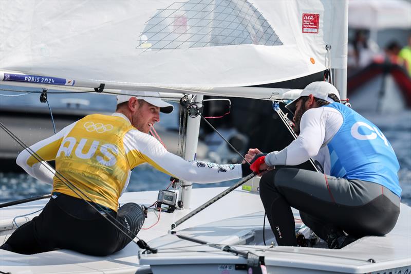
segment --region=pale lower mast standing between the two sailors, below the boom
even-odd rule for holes
[[[202,107],[202,99],[203,95],[195,95],[191,99],[191,103],[196,105],[198,108],[201,109]],[[201,117],[197,115],[196,117],[190,117],[187,121],[187,137],[186,137],[186,144],[185,144],[185,154],[184,159],[188,161],[192,161],[196,159],[197,153],[197,144],[198,144],[198,134],[200,131],[200,121]],[[191,199],[191,190],[193,188],[193,182],[189,181],[182,181],[180,191],[179,191],[179,198],[178,202],[182,202],[183,209],[190,208],[190,199]]]

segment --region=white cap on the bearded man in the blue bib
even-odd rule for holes
[[[300,99],[303,96],[309,96],[310,94],[312,94],[317,99],[322,99],[330,103],[341,102],[340,94],[337,88],[335,88],[328,82],[320,81],[312,82],[311,84],[307,85],[301,92],[300,97],[293,100],[291,103],[287,104],[286,108],[290,112],[294,113],[296,109],[295,104],[297,103],[298,99]]]

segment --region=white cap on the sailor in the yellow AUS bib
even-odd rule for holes
[[[117,104],[121,104],[123,102],[128,102],[128,100],[132,97],[137,97],[139,100],[144,100],[147,103],[160,107],[160,112],[162,113],[171,113],[174,109],[172,104],[164,102],[160,98],[160,94],[158,92],[142,92],[137,90],[121,90],[121,95],[117,95]]]

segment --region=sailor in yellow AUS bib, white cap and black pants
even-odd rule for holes
[[[119,208],[118,203],[131,170],[141,163],[199,183],[239,178],[242,168],[248,169],[240,164],[215,163],[205,168],[197,161],[186,161],[168,152],[147,133],[160,120],[159,113],[170,113],[173,106],[162,101],[158,93],[123,92],[135,96],[119,95],[113,115],[88,115],[30,147],[46,161],[55,159],[55,170],[74,188],[54,176],[44,166],[47,163],[39,162],[27,150],[18,155],[18,165],[34,178],[52,184],[53,195],[43,212],[18,228],[0,248],[24,254],[68,248],[108,255],[131,240],[101,213],[116,218],[128,235],[136,235],[144,223],[140,206],[127,203]],[[96,212],[84,199],[104,210]]]

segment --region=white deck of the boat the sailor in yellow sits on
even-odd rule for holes
[[[202,188],[194,189],[192,192],[191,210],[203,204],[210,198],[222,192],[226,188]],[[152,205],[157,200],[157,191],[128,192],[125,193],[120,203],[135,202],[146,206]],[[2,232],[4,228],[12,227],[13,218],[17,215],[27,214],[41,209],[47,200],[30,202],[24,205],[17,205],[0,209]],[[228,207],[227,205],[230,205]],[[242,190],[235,190],[226,197],[218,200],[206,210],[198,213],[190,220],[177,227],[180,229],[202,225],[205,223],[223,220],[225,218],[240,216],[263,210],[258,194]],[[174,213],[161,212],[160,222],[151,229],[141,230],[139,238],[148,242],[171,229],[171,224],[180,217],[188,214],[190,210],[177,210]],[[30,215],[32,218],[34,215]],[[17,224],[26,222],[24,217],[18,218]],[[153,212],[149,213],[143,228],[150,227],[157,221]],[[10,232],[10,230],[9,230]],[[2,235],[1,243],[5,241]],[[104,241],[104,239],[102,239]],[[0,250],[0,270],[11,273],[136,273],[147,268],[140,266],[138,260],[138,247],[130,243],[123,250],[107,256],[92,257],[70,250],[57,250],[34,255],[22,255],[5,250]],[[139,273],[140,273],[139,271]],[[142,271],[141,273],[144,273]]]

